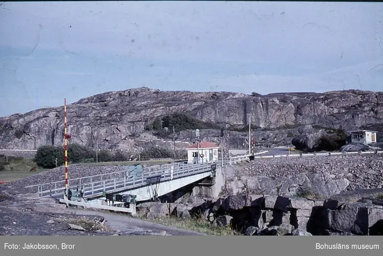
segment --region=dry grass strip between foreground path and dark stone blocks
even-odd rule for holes
[[[153,223],[182,228],[186,230],[192,230],[200,232],[206,235],[212,236],[240,236],[241,233],[233,230],[230,226],[217,227],[212,225],[210,222],[203,219],[190,218],[181,219],[178,217],[163,217],[158,219],[149,219],[146,217],[140,217],[142,220],[150,221]]]

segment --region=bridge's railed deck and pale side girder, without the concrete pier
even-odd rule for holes
[[[223,164],[231,165],[248,158],[249,155],[231,157],[224,159]],[[157,196],[161,196],[165,193],[163,191],[161,195],[158,195],[157,193],[159,184],[161,183],[167,182],[167,193],[170,193],[176,189],[204,179],[208,176],[214,176],[217,168],[221,168],[221,160],[217,161],[216,163],[204,162],[201,164],[175,162],[172,164],[166,164],[152,168],[153,170],[148,172],[143,172],[143,169],[140,165],[135,165],[126,166],[124,171],[69,179],[68,184],[69,189],[73,195],[77,194],[77,191],[82,190],[81,196],[85,200],[103,197],[104,192],[126,194],[133,190],[137,192],[137,189],[145,187],[148,189],[150,188],[149,190],[145,190],[145,193],[151,194],[151,198],[156,198]],[[178,182],[179,184],[176,186],[169,186],[169,183],[175,182]],[[65,194],[65,180],[38,185],[30,185],[26,188],[33,187],[37,188],[39,197],[52,196],[55,198],[62,198]],[[142,198],[147,197],[148,196],[146,195]],[[137,198],[137,201],[138,200],[139,198]]]

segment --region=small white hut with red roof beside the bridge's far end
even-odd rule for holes
[[[198,162],[210,162],[218,160],[218,149],[220,147],[211,142],[195,143],[186,148],[188,164]]]

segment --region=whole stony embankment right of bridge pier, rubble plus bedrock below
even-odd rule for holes
[[[226,195],[328,197],[383,187],[383,154],[258,158],[225,171]]]

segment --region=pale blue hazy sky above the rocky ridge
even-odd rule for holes
[[[0,117],[129,88],[383,91],[383,3],[16,2]]]

